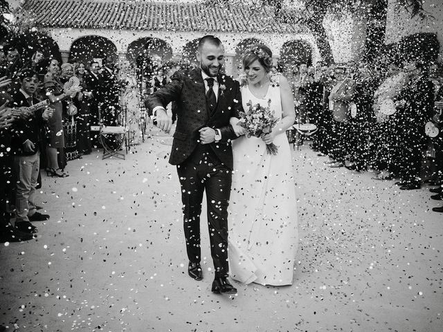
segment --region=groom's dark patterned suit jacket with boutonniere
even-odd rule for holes
[[[170,164],[180,165],[199,144],[199,129],[220,129],[221,141],[210,143],[217,157],[233,169],[233,154],[230,141],[237,138],[229,124],[232,116],[243,111],[239,83],[226,75],[218,75],[219,93],[217,107],[209,113],[206,107],[206,91],[201,69],[174,73],[171,82],[147,97],[147,107],[165,107],[177,102],[177,128],[174,132]]]

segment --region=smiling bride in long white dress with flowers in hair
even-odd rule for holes
[[[228,254],[230,275],[249,284],[290,285],[298,248],[296,185],[286,130],[295,120],[293,95],[285,77],[272,75],[272,53],[253,46],[243,57],[246,80],[241,88],[246,103],[268,106],[280,118],[263,138],[242,136],[233,141],[234,172],[229,203]],[[230,123],[237,135],[244,133]],[[266,143],[278,146],[273,156]]]

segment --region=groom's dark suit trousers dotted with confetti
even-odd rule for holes
[[[192,158],[194,157],[194,158]],[[191,262],[201,261],[200,214],[206,190],[210,251],[216,277],[228,276],[228,203],[232,171],[211,156],[191,156],[177,166],[183,203],[183,228]]]

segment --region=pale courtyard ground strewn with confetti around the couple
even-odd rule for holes
[[[300,248],[292,286],[210,292],[187,275],[170,137],[126,160],[95,151],[43,177],[51,215],[37,239],[0,248],[7,331],[443,331],[442,214],[427,188],[403,192],[370,172],[325,167],[295,150]],[[206,209],[206,208],[205,208]]]

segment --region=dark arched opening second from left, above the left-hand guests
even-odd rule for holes
[[[116,63],[117,48],[113,42],[102,36],[84,36],[76,39],[71,45],[70,59],[89,64],[93,59],[104,59]]]

